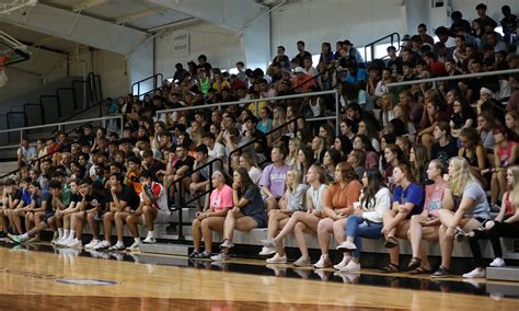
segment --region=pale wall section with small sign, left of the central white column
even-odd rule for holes
[[[155,38],[154,71],[170,78],[175,72],[175,64],[181,62],[187,69],[187,62],[200,54],[207,56],[207,61],[215,68],[230,69],[235,62],[244,60],[245,53],[241,45],[240,35],[217,25],[203,23],[189,28],[189,53],[187,56],[175,55],[173,37],[175,30],[169,31]]]

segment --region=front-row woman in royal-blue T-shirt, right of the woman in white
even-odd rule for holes
[[[407,239],[410,219],[422,212],[425,199],[424,189],[413,180],[410,166],[399,164],[393,169],[393,182],[396,185],[393,193],[393,206],[383,217],[382,233],[385,237],[384,246],[389,249],[390,264],[382,268],[385,273],[400,272],[400,239]]]

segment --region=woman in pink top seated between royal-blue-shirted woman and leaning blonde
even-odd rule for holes
[[[438,211],[442,207],[443,193],[447,182],[443,180],[445,164],[441,160],[430,161],[427,169],[427,178],[432,181],[425,187],[424,210],[420,215],[411,217],[410,231],[407,232],[413,257],[407,265],[411,274],[430,274],[430,263],[427,258],[427,249],[424,240],[438,241],[440,220]]]

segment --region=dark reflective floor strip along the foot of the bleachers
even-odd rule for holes
[[[187,257],[174,257],[153,254],[139,254],[129,252],[104,252],[94,250],[74,250],[57,247],[49,244],[13,244],[7,240],[0,240],[0,246],[9,247],[12,252],[47,252],[55,253],[64,260],[77,256],[92,257],[97,260],[125,261],[140,264],[155,264],[166,266],[178,266],[186,268],[244,273],[261,276],[276,276],[288,278],[302,278],[310,280],[334,281],[353,285],[369,285],[380,287],[392,287],[401,289],[431,290],[452,293],[468,293],[477,296],[491,296],[493,298],[519,298],[519,284],[510,283],[487,284],[481,279],[438,280],[428,277],[406,277],[405,275],[379,275],[366,273],[343,273],[330,269],[296,268],[291,265],[258,265],[235,262],[210,262],[195,261]]]

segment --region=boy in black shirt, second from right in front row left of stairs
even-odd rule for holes
[[[120,174],[109,175],[109,209],[103,216],[104,241],[95,245],[95,250],[122,251],[124,219],[135,212],[139,207],[140,198],[137,193],[124,184],[124,176]],[[117,228],[117,243],[111,246],[112,222],[115,220]]]

